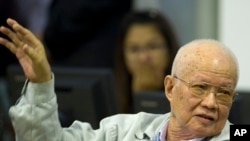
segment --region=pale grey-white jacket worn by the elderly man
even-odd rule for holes
[[[54,78],[46,83],[26,82],[20,101],[9,110],[17,141],[152,141],[166,124],[169,113],[118,114],[104,118],[93,130],[75,121],[62,128],[58,118]],[[221,134],[205,140],[229,140],[227,121]]]

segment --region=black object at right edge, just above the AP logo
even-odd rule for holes
[[[250,91],[239,91],[229,114],[233,124],[250,124]]]

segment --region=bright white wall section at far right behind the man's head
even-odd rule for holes
[[[240,67],[238,88],[250,90],[250,1],[220,0],[219,40],[236,54]]]

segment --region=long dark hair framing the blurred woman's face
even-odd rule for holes
[[[132,110],[132,89],[131,74],[125,64],[124,57],[124,40],[127,36],[129,28],[134,24],[152,24],[163,36],[166,47],[169,49],[169,64],[165,70],[165,74],[170,74],[173,59],[179,48],[179,42],[173,27],[165,16],[159,11],[131,11],[123,19],[118,34],[118,46],[115,50],[115,77],[118,95],[118,103],[121,106],[121,112],[133,112]],[[163,88],[162,88],[163,89]]]

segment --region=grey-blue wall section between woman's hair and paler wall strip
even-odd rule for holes
[[[195,24],[196,0],[134,0],[134,9],[158,9],[175,28],[181,44],[185,44],[196,36]]]

